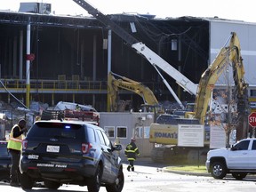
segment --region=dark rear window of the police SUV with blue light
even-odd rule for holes
[[[83,129],[81,124],[63,124],[63,123],[36,123],[33,129],[28,132],[28,137],[53,137],[56,139],[82,139]]]

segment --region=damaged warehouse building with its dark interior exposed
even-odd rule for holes
[[[120,76],[147,85],[159,102],[175,102],[156,68],[99,20],[54,15],[51,4],[46,7],[47,12],[0,12],[0,100],[12,102],[11,92],[25,103],[29,75],[28,100],[49,106],[65,100],[107,111],[111,68]],[[160,19],[145,14],[113,14],[108,18],[195,84],[235,31],[241,40],[249,96],[256,96],[255,23],[219,18]],[[181,101],[195,100],[172,76],[162,75]],[[120,91],[119,97],[132,100],[134,111],[143,103],[134,92]]]

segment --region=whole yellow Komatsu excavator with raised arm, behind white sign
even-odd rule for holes
[[[173,150],[171,154],[169,153],[171,152],[170,145],[171,147],[178,146],[179,124],[185,124],[188,127],[191,126],[191,129],[193,129],[194,124],[203,125],[204,148],[208,148],[206,144],[209,144],[211,137],[209,136],[209,124],[212,124],[212,113],[211,110],[208,110],[209,102],[212,99],[214,85],[228,66],[233,68],[232,75],[235,83],[233,89],[236,92],[236,94],[234,94],[236,95],[235,100],[237,108],[236,122],[232,122],[232,126],[236,129],[236,140],[241,140],[247,137],[247,117],[248,112],[250,111],[250,106],[247,91],[248,84],[244,81],[244,64],[240,49],[239,39],[236,36],[236,33],[232,32],[229,38],[229,45],[221,48],[215,60],[213,60],[212,64],[204,71],[200,79],[197,87],[194,111],[187,112],[184,119],[176,119],[175,116],[169,116],[169,119],[166,120],[168,116],[163,117],[163,115],[162,117],[160,116],[160,118],[165,118],[164,123],[161,123],[156,119],[156,124],[150,125],[149,142],[162,145],[160,148],[153,149],[151,153],[153,160],[164,161],[164,158],[170,158],[170,156],[172,158],[174,156]],[[230,111],[228,111],[228,113],[229,116]],[[209,118],[207,116],[209,116]],[[192,120],[197,121],[197,123]],[[213,119],[213,122],[214,121],[215,119]],[[216,124],[216,121],[214,123]],[[205,130],[206,128],[208,131]],[[189,148],[187,152],[182,151],[180,153],[184,156],[184,154],[188,154],[191,149],[193,148]],[[176,152],[177,151],[179,151],[179,147],[178,149],[176,148]]]

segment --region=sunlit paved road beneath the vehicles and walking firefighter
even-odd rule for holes
[[[154,164],[150,160],[138,159],[135,172],[126,170],[124,162],[125,184],[123,192],[252,192],[256,188],[256,176],[246,180],[234,180],[228,177],[224,180],[215,180],[212,177],[191,176],[172,172],[162,172],[166,164]],[[8,184],[0,184],[1,191],[23,191],[21,188],[12,188]],[[47,188],[33,188],[28,191],[45,192]],[[63,185],[60,192],[87,191],[86,187]],[[106,192],[100,188],[100,192]]]

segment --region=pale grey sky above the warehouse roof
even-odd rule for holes
[[[73,0],[0,0],[0,10],[17,12],[20,2],[52,4],[56,14],[88,15]],[[255,8],[250,0],[90,0],[87,1],[105,14],[150,13],[157,18],[165,17],[214,17],[228,20],[256,22]]]

